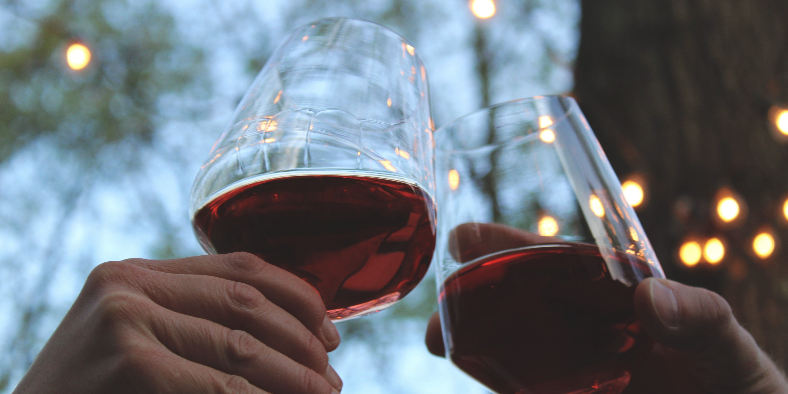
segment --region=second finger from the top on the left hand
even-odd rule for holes
[[[299,364],[325,373],[328,355],[320,340],[254,287],[213,276],[137,269],[143,271],[136,275],[137,286],[153,302],[180,314],[245,331]]]

